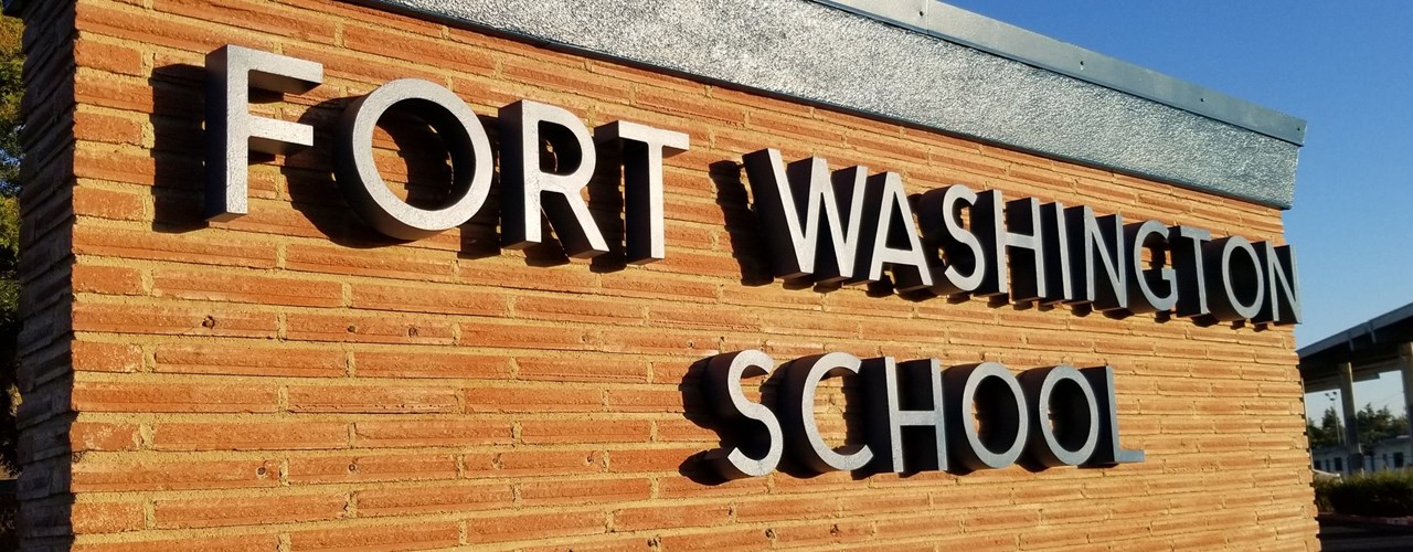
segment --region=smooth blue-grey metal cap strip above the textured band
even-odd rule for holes
[[[814,0],[1303,145],[1306,121],[937,0]]]

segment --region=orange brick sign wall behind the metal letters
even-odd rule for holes
[[[25,17],[31,83],[61,90],[34,102],[27,140],[44,175],[24,210],[31,548],[1316,546],[1287,328],[787,287],[739,161],[773,147],[914,192],[964,182],[1252,240],[1280,239],[1279,210],[332,0],[30,1]],[[225,44],[326,78],[253,106],[319,126],[318,145],[253,161],[250,215],[208,224],[202,66]],[[325,144],[346,97],[396,78],[483,117],[533,99],[688,133],[667,258],[499,250],[495,198],[461,230],[380,239]],[[439,182],[408,174],[427,137],[393,127],[384,176]],[[593,199],[610,176],[591,186],[601,226],[620,209]],[[1123,445],[1147,462],[697,483],[690,459],[718,436],[690,367],[749,347],[1112,364]],[[844,404],[835,387],[817,405],[835,440]]]

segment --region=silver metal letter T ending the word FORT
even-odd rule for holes
[[[663,227],[663,158],[687,151],[685,133],[613,121],[593,128],[598,143],[623,147],[623,224],[627,263],[649,264],[667,256]]]

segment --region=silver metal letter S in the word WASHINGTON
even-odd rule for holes
[[[937,295],[971,294],[986,277],[986,254],[981,240],[962,227],[962,208],[971,209],[975,216],[976,199],[976,192],[961,184],[923,193],[918,209],[923,213],[920,223],[924,240],[947,256],[945,270],[930,267],[931,271],[941,271],[931,289]],[[962,274],[966,268],[971,272]]]

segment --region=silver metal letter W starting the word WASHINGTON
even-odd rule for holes
[[[831,176],[820,157],[787,168],[779,150],[746,154],[745,164],[774,274],[786,280],[814,275],[815,282],[853,280],[868,169],[851,167]],[[849,203],[841,208],[839,196]],[[829,240],[820,240],[821,227],[828,229]]]

